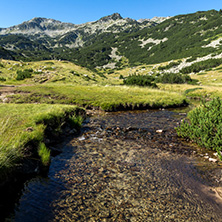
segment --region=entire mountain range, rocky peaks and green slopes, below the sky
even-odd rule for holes
[[[121,68],[220,55],[221,33],[222,14],[216,10],[138,21],[114,13],[81,25],[34,18],[2,29],[0,46],[15,59],[54,58],[90,69]]]

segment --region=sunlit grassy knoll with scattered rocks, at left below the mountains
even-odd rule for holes
[[[0,77],[6,79],[2,84],[36,84],[43,82],[72,82],[73,84],[92,84],[101,82],[100,75],[68,61],[0,61]],[[32,69],[32,78],[16,81],[17,71]]]

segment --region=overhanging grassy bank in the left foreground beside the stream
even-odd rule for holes
[[[48,131],[59,135],[65,123],[81,124],[76,106],[44,104],[0,104],[0,180],[10,175],[24,158],[36,158],[47,165],[49,150],[44,137]]]

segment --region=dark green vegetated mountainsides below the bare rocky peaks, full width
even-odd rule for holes
[[[58,37],[1,35],[0,46],[7,51],[1,51],[0,56],[8,58],[10,52],[16,60],[23,61],[69,60],[90,69],[110,63],[123,68],[125,65],[154,64],[188,57],[193,61],[197,57],[222,53],[221,24],[221,11],[211,10],[178,15],[145,28],[129,20],[122,25],[123,31],[121,26],[111,26],[110,32],[98,30],[87,34],[82,27]],[[124,29],[126,25],[131,28]],[[71,47],[77,39],[83,44]],[[112,57],[113,48],[122,59]]]

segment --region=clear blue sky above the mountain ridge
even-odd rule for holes
[[[0,27],[34,17],[81,24],[118,12],[133,19],[222,8],[221,0],[1,0]]]

